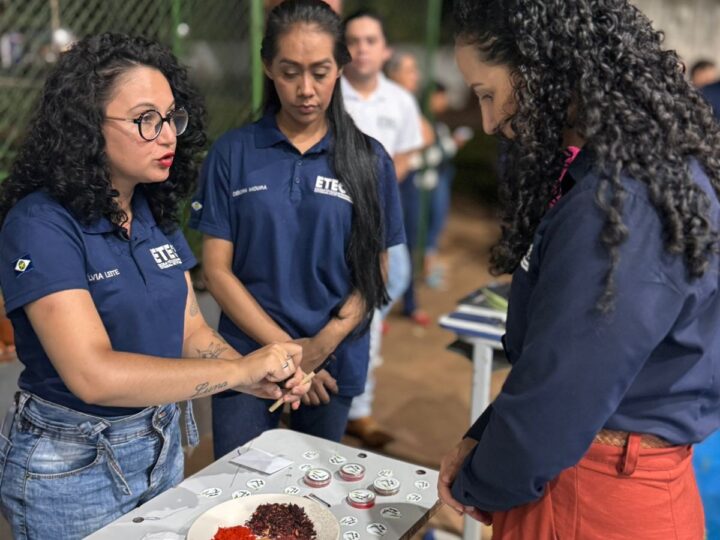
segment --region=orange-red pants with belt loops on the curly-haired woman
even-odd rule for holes
[[[689,446],[593,444],[543,497],[493,513],[493,540],[702,540],[702,502]]]

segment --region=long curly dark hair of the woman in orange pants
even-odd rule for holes
[[[456,0],[457,39],[480,58],[510,69],[518,110],[501,183],[503,236],[492,252],[498,274],[513,271],[555,196],[573,127],[600,171],[596,200],[607,218],[609,254],[602,312],[612,309],[614,271],[628,230],[621,173],[648,188],[666,250],[697,278],[717,251],[710,201],[693,181],[690,158],[720,190],[720,130],[710,107],[685,80],[664,36],[627,0]]]

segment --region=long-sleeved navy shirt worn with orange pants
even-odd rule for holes
[[[717,228],[717,197],[697,162],[690,168]],[[603,427],[685,445],[720,426],[718,257],[690,279],[682,257],[665,250],[646,187],[622,177],[629,236],[615,309],[598,314],[609,258],[587,151],[568,174],[575,187],[543,218],[513,276],[505,337],[513,367],[468,432],[479,442],[453,484],[457,500],[483,510],[539,498]]]

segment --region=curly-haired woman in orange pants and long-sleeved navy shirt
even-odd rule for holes
[[[720,133],[627,0],[461,0],[456,57],[510,140],[497,399],[439,492],[496,538],[703,537],[720,425]]]

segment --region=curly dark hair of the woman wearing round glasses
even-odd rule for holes
[[[118,77],[137,66],[161,71],[190,117],[168,180],[142,185],[162,230],[177,228],[181,202],[194,188],[196,154],[206,141],[205,107],[169,50],[143,37],[113,33],[78,41],[48,75],[27,137],[0,187],[0,223],[22,197],[40,189],[81,223],[103,216],[117,225],[127,221],[110,184],[102,124]]]

